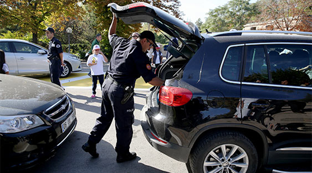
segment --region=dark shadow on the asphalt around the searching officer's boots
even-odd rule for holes
[[[167,173],[139,163],[140,156],[133,161],[116,163],[114,147],[104,140],[97,145],[100,157],[94,159],[81,149],[88,136],[74,131],[54,157],[23,173]]]

